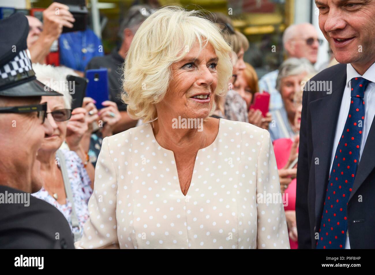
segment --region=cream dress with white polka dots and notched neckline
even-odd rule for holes
[[[220,119],[183,195],[150,123],[106,137],[79,248],[290,248],[269,132]],[[257,204],[257,202],[259,202]]]

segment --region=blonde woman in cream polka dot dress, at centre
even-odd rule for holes
[[[149,123],[103,140],[77,247],[289,248],[282,202],[262,200],[280,194],[270,135],[210,117],[228,89],[230,51],[196,11],[164,7],[145,19],[123,99]]]

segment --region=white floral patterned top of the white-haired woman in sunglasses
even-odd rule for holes
[[[89,218],[89,209],[87,207],[87,204],[93,192],[91,188],[91,180],[77,153],[68,150],[62,150],[62,152],[65,156],[66,168],[68,169],[68,177],[72,186],[72,196],[78,223],[80,224],[81,228],[83,228],[83,225]],[[59,164],[58,167],[60,168]],[[70,202],[68,198],[66,198],[66,204],[59,204],[51,195],[49,195],[48,191],[44,189],[44,187],[42,187],[42,189],[40,189],[38,192],[31,195],[36,198],[42,199],[43,201],[49,202],[58,210],[60,210],[60,212],[63,213],[65,218],[68,220],[72,232],[79,232],[79,229],[77,227],[74,227],[74,229],[72,228],[72,202]]]

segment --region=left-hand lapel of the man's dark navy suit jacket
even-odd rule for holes
[[[314,147],[314,159],[312,161],[319,162],[319,164],[315,164],[315,218],[317,221],[320,220],[318,217],[323,211],[324,196],[330,173],[333,141],[346,84],[346,75],[345,66],[345,71],[338,71],[336,74],[337,77],[335,80],[332,80],[332,87],[334,88],[332,94],[311,101],[309,104],[309,109],[311,110],[312,143]]]

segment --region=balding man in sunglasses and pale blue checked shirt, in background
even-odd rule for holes
[[[317,62],[318,48],[323,41],[318,39],[318,32],[312,24],[290,25],[285,29],[282,40],[288,58],[304,57],[311,64]],[[271,95],[270,111],[281,109],[283,106],[281,95],[276,89],[278,74],[279,70],[271,71],[259,80],[259,90],[267,91]]]

